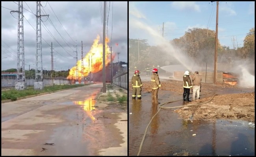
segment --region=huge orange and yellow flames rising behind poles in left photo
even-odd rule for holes
[[[87,77],[90,72],[96,73],[103,69],[103,44],[99,43],[100,36],[94,40],[90,51],[83,57],[83,69],[82,69],[82,59],[78,60],[78,78],[76,77],[76,66],[72,67],[69,71],[69,76],[67,79],[79,80],[83,77]],[[105,67],[111,62],[111,51],[108,46],[109,39],[106,38],[105,45]],[[115,54],[112,52],[112,60],[115,58]]]

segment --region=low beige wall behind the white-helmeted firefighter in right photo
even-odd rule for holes
[[[177,79],[177,80],[182,80],[183,79],[183,75],[184,75],[185,71],[174,71],[173,72],[173,79]],[[213,83],[213,79],[214,79],[214,72],[201,72],[198,71],[199,75],[202,76],[202,82],[206,82],[206,83]],[[190,79],[191,79],[191,75],[193,75],[194,73],[191,73]],[[206,74],[206,77],[205,77]],[[206,80],[206,81],[205,81]],[[223,82],[223,72],[217,72],[217,82]]]

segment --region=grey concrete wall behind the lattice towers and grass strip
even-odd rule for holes
[[[1,80],[1,87],[15,87],[15,82],[17,82],[17,80],[6,80],[6,79],[2,79]],[[34,82],[36,82],[36,80],[25,80],[26,82],[26,86],[34,86]],[[44,82],[44,86],[47,85],[51,85],[52,84],[52,80],[43,80]],[[70,81],[67,79],[54,79],[53,83],[55,85],[64,85],[64,84],[70,84]]]

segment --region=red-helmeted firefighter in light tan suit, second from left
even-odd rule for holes
[[[158,69],[154,68],[152,70],[152,75],[151,75],[151,88],[152,88],[152,103],[157,103],[158,102],[158,89],[161,87],[159,76],[158,76]]]

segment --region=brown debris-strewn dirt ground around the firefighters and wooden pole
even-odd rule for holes
[[[168,80],[161,81],[161,90],[159,90],[158,95],[160,95],[163,90],[170,91],[172,94],[181,95],[183,93],[182,81]],[[207,88],[206,88],[207,87]],[[229,90],[239,91],[240,87],[232,86],[225,83],[217,84],[204,84],[202,83],[202,91],[213,92],[216,90],[222,90],[223,88],[229,88]],[[132,90],[131,85],[129,90]],[[143,91],[146,93],[151,93],[150,82],[143,82]],[[192,91],[190,90],[189,97],[192,97]],[[200,104],[195,106],[186,106],[184,108],[177,108],[176,113],[184,119],[193,117],[193,120],[215,120],[215,119],[225,119],[225,120],[244,120],[247,122],[255,122],[255,92],[242,92],[239,94],[224,94],[215,95],[213,99],[207,102],[212,97],[200,98],[192,102],[187,102],[185,105]],[[192,100],[192,99],[190,99]],[[204,104],[203,104],[204,103]]]

